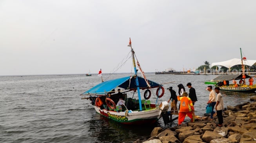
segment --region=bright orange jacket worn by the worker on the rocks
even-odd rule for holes
[[[194,106],[189,97],[179,97],[178,100],[180,101],[180,112],[191,112],[194,111]]]

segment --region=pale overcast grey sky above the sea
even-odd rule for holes
[[[241,58],[240,47],[243,57],[255,60],[255,5],[254,0],[0,0],[0,75],[129,73],[129,38],[144,72]]]

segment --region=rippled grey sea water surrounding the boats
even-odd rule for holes
[[[115,79],[129,76],[120,73],[104,78]],[[166,89],[172,86],[192,83],[196,89],[198,102],[195,114],[202,116],[209,91],[204,81],[216,75],[155,75],[147,78],[161,83]],[[155,126],[136,127],[121,125],[107,120],[94,111],[89,100],[81,100],[80,94],[101,82],[97,75],[23,75],[0,76],[0,142],[2,143],[131,143],[138,138],[148,138],[152,129],[171,127],[162,118]],[[174,82],[164,84],[167,82]],[[186,91],[189,89],[185,86]],[[155,92],[155,90],[153,90]],[[248,102],[255,93],[222,92],[224,104],[237,105]],[[167,101],[170,93],[160,102]],[[151,96],[150,100],[153,100]],[[186,118],[185,121],[189,121]]]

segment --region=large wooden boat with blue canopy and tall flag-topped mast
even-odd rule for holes
[[[128,46],[131,47],[131,39]],[[91,100],[97,113],[116,122],[129,125],[153,124],[162,117],[162,111],[167,111],[169,108],[166,101],[162,102],[160,105],[157,102],[158,98],[163,96],[164,88],[161,84],[146,79],[138,61],[137,65],[139,70],[142,71],[143,77],[137,75],[134,59],[135,53],[132,47],[131,53],[134,75],[101,82],[82,93],[81,95],[85,96],[82,99]],[[125,100],[124,105],[116,106],[119,100],[116,89],[121,89]],[[149,100],[151,90],[153,89],[157,89],[156,100],[154,101]],[[140,92],[142,90],[145,90],[145,99],[141,99]]]

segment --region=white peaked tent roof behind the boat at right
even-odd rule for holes
[[[232,66],[239,65],[239,64],[242,64],[241,59],[234,58],[234,59],[223,61],[223,62],[212,63],[212,66],[225,66],[230,70]],[[247,66],[253,66],[254,64],[256,64],[256,60],[243,59],[243,64]]]

